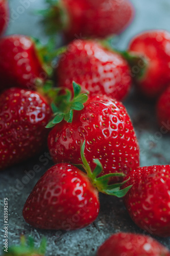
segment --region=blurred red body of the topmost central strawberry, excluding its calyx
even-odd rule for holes
[[[69,26],[65,27],[68,39],[106,37],[122,32],[134,17],[129,0],[62,0]]]

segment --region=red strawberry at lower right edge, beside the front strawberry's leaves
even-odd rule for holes
[[[140,228],[160,237],[170,236],[170,165],[140,167],[130,172],[132,188],[125,205]]]

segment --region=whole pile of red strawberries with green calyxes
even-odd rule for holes
[[[170,33],[143,32],[119,52],[104,38],[132,21],[129,0],[47,3],[43,24],[62,33],[64,47],[24,35],[0,39],[0,169],[38,155],[46,144],[56,163],[33,188],[23,218],[41,229],[83,228],[98,217],[101,192],[123,197],[141,229],[169,237],[170,165],[139,167],[138,141],[120,101],[134,82],[157,102],[161,132],[170,131]],[[1,35],[8,20],[7,0],[0,0]],[[128,233],[114,234],[97,255],[113,253],[170,255],[152,238]],[[26,255],[35,254],[31,247]]]

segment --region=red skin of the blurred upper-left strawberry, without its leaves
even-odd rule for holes
[[[0,40],[0,90],[14,86],[33,90],[36,79],[46,76],[31,38],[9,35]]]

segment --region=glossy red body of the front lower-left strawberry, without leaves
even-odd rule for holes
[[[27,223],[42,229],[75,230],[98,217],[100,203],[87,175],[60,163],[40,178],[23,207]]]

